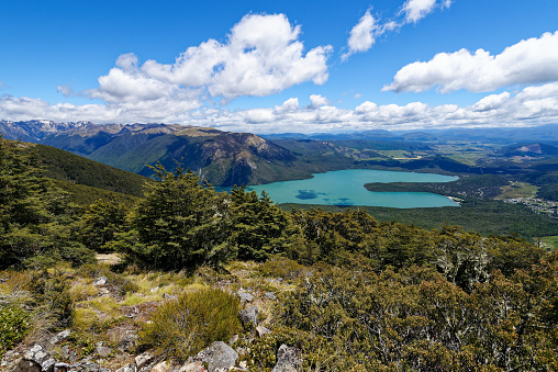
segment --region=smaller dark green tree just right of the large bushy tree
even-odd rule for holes
[[[255,191],[235,187],[231,202],[228,243],[238,259],[261,261],[286,250],[290,221],[266,193],[258,198]]]

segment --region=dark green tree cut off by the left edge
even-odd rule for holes
[[[77,239],[78,211],[43,176],[32,145],[0,136],[0,269],[30,258],[93,261]]]

